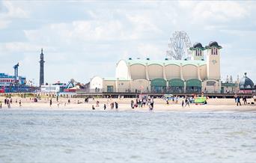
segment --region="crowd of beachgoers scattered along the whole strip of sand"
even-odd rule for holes
[[[195,104],[198,104],[196,103],[196,99],[198,99],[198,96],[196,95],[193,95],[193,96],[167,96],[168,94],[166,94],[166,96],[163,96],[163,99],[165,100],[166,104],[167,105],[170,105],[170,104],[181,104],[181,107],[182,108],[186,108],[187,106],[190,107],[190,104],[191,103],[195,103]],[[247,96],[238,96],[237,94],[234,95],[234,100],[235,100],[235,103],[237,106],[239,105],[242,105],[242,102],[243,102],[243,105],[254,105],[256,103],[256,96],[252,96],[252,99],[249,99],[249,97]],[[34,100],[36,99],[36,97],[34,98],[29,98],[29,101],[31,102],[37,102],[37,100]],[[119,97],[118,99],[121,100],[121,97]],[[207,99],[209,98],[206,98],[205,99],[205,102],[203,103],[200,103],[200,104],[207,104]],[[28,99],[25,99],[25,101],[27,101]],[[40,101],[43,100],[43,99],[39,99]],[[67,100],[67,101],[66,101]],[[92,97],[90,99],[90,103],[93,103],[94,105],[91,105],[91,108],[92,110],[96,110],[96,108],[101,108],[103,107],[103,110],[107,110],[108,108],[109,109],[116,109],[118,110],[118,102],[117,100],[113,100],[111,97],[107,97],[107,100],[105,102],[103,101],[98,101],[97,99],[94,99],[94,97]],[[6,97],[3,102],[0,100],[0,108],[3,108],[4,105],[7,107],[7,108],[10,108],[10,106],[13,104],[13,102],[15,101],[16,105],[14,105],[15,107],[19,104],[19,107],[22,107],[22,101],[21,99],[19,98],[14,98],[14,100],[8,96]],[[55,102],[54,102],[55,101]],[[60,105],[69,105],[71,103],[71,100],[70,99],[60,99],[57,100],[56,99],[51,99],[51,98],[45,98],[44,99],[44,102],[49,102],[49,106],[52,107],[52,104],[55,103],[58,105],[58,107]],[[101,102],[101,105],[100,105],[100,102]],[[26,102],[25,102],[26,103]],[[72,99],[72,103],[77,103],[77,104],[82,104],[82,103],[89,103],[89,97],[86,97],[84,99],[84,102],[83,102],[83,99],[79,101],[79,99]],[[131,99],[130,100],[130,108],[132,109],[135,109],[135,108],[148,108],[149,111],[153,111],[153,108],[154,108],[154,98],[153,96],[146,96],[146,95],[140,95],[138,96],[137,98],[135,99]]]

